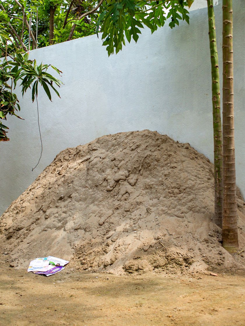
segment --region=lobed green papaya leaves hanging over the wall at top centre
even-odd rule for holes
[[[189,23],[188,10],[183,0],[142,1],[142,0],[111,0],[103,3],[97,22],[97,35],[102,32],[103,45],[108,55],[118,53],[131,38],[137,42],[140,28],[144,25],[153,33],[170,19],[171,28],[179,25],[179,20]]]

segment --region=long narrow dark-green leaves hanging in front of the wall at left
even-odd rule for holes
[[[0,49],[5,52],[5,57],[0,63],[0,119],[7,120],[8,114],[22,119],[17,114],[21,108],[16,94],[13,93],[17,83],[22,87],[22,95],[28,88],[32,90],[32,101],[38,96],[38,85],[41,85],[50,100],[52,100],[50,87],[59,96],[54,85],[59,87],[61,82],[48,73],[47,70],[51,67],[59,74],[61,71],[51,65],[43,65],[42,63],[37,65],[36,60],[29,60],[29,53],[23,53],[15,48],[11,38],[1,30],[1,25]],[[9,50],[13,49],[15,51],[10,55]],[[0,141],[9,140],[6,129],[8,127],[0,121]]]

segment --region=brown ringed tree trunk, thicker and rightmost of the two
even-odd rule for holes
[[[238,249],[234,142],[232,0],[223,0],[223,247]]]

